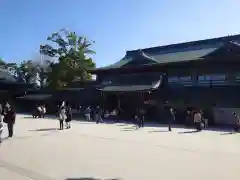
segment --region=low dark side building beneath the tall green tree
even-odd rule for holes
[[[68,102],[73,110],[79,111],[80,107],[99,104],[100,97],[96,81],[75,81],[61,90],[30,90],[17,99],[18,105],[23,107],[22,111],[29,112],[34,110],[36,105],[44,104],[48,113],[56,113],[63,101]]]

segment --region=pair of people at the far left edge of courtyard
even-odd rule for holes
[[[6,102],[4,106],[0,104],[0,142],[1,135],[4,130],[4,123],[7,124],[8,128],[8,137],[11,138],[13,136],[13,127],[15,124],[16,112],[11,107],[11,105]]]

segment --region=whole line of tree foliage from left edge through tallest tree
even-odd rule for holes
[[[65,29],[53,33],[47,40],[49,44],[40,45],[41,57],[24,60],[20,64],[6,63],[0,58],[1,68],[8,69],[26,83],[38,81],[41,88],[47,84],[57,89],[74,80],[91,79],[88,70],[95,67],[91,58],[95,54],[91,49],[93,41]]]

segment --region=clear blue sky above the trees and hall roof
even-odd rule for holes
[[[97,66],[126,50],[240,32],[239,0],[0,0],[0,57],[21,62],[62,28],[96,41]]]

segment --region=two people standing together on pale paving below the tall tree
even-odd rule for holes
[[[69,104],[63,102],[58,111],[60,130],[64,129],[64,122],[66,128],[71,128],[72,109]]]

